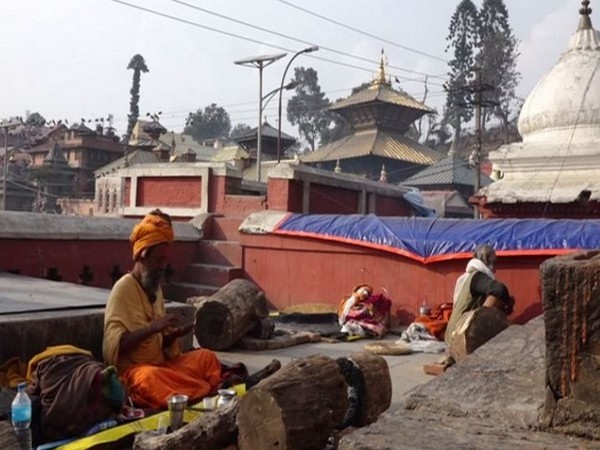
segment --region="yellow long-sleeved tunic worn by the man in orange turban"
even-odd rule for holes
[[[115,366],[119,373],[135,364],[161,364],[166,358],[181,353],[179,339],[163,351],[163,334],[154,333],[127,355],[119,355],[121,337],[146,327],[150,322],[165,315],[162,290],[156,301],[150,303],[148,296],[131,274],[124,275],[115,283],[104,312],[104,341],[102,352],[107,365]]]

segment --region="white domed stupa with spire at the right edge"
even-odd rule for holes
[[[490,153],[502,178],[471,199],[483,217],[600,217],[600,33],[589,3],[523,105],[523,142]]]

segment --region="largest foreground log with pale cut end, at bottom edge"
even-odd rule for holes
[[[242,397],[238,446],[323,450],[343,420],[347,402],[347,385],[333,359],[298,358]]]

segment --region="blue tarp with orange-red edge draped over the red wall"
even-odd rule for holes
[[[348,242],[425,263],[467,258],[477,244],[484,243],[500,255],[558,255],[600,248],[600,220],[290,214],[274,233]]]

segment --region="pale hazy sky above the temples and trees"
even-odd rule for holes
[[[140,53],[150,69],[142,75],[140,115],[162,111],[161,122],[180,131],[190,111],[215,102],[227,109],[233,124],[256,126],[258,70],[234,65],[233,61],[288,49],[287,58],[264,69],[266,93],[279,86],[288,58],[307,43],[364,58],[322,48],[314,55],[356,67],[309,55],[294,61],[293,66],[317,70],[330,100],[345,97],[353,86],[371,80],[383,47],[392,76],[412,79],[401,80],[404,90],[422,99],[422,74],[427,73],[430,96],[426,103],[440,110],[443,104],[441,84],[447,64],[401,47],[449,59],[444,52],[445,37],[459,0],[285,0],[395,45],[323,21],[280,0],[179,1],[304,43],[248,28],[174,0],[122,1],[260,42],[226,36],[112,0],[3,0],[0,118],[39,111],[47,119],[73,121],[112,113],[121,134],[126,129],[133,73],[126,67],[131,57]],[[476,3],[481,4],[481,0]],[[577,27],[580,1],[505,3],[521,42],[518,67],[523,80],[518,92],[525,97],[566,49]],[[591,6],[598,8],[600,2],[592,1]],[[592,21],[600,24],[600,16],[592,14]],[[288,73],[292,72],[290,69]],[[265,112],[274,126],[276,106],[274,99]],[[285,122],[284,129],[297,135]]]

